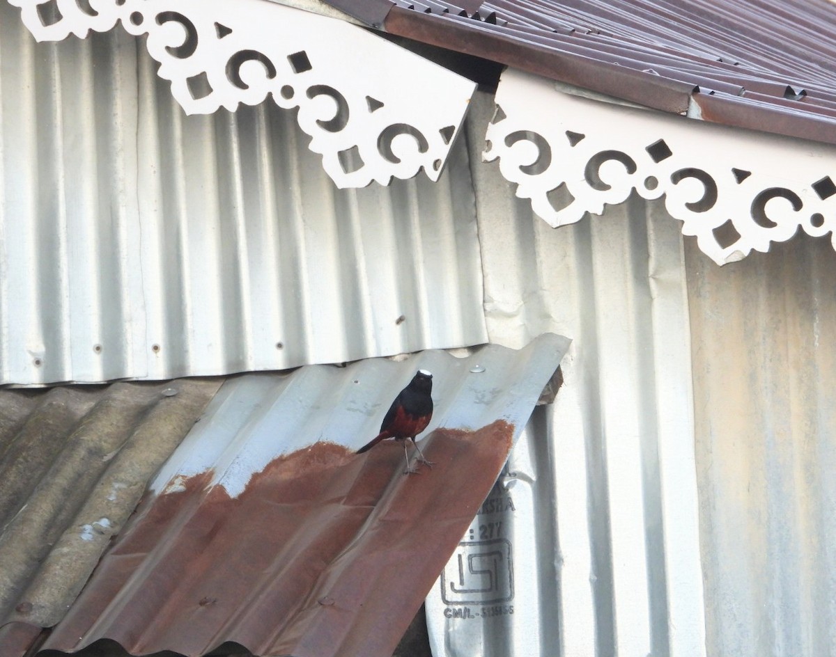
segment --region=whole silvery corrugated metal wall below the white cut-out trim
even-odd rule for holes
[[[338,194],[272,105],[187,119],[119,30],[36,47],[16,14],[0,1],[0,319],[24,327],[3,382],[557,331],[566,384],[507,477],[524,622],[484,625],[484,653],[836,653],[827,240],[720,269],[637,200],[552,230],[478,161],[484,96],[440,184]],[[477,621],[448,634],[431,604],[436,654],[462,654]]]

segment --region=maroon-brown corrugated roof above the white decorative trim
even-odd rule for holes
[[[827,0],[326,0],[373,27],[667,112],[836,144]]]

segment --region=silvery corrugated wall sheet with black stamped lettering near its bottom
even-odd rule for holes
[[[634,197],[549,228],[496,165],[476,164],[491,98],[474,104],[491,339],[516,346],[560,331],[573,343],[557,401],[535,413],[492,493],[498,501],[457,552],[466,558],[473,537],[500,532],[512,544],[513,597],[456,598],[442,579],[427,601],[434,654],[705,654],[678,222]]]

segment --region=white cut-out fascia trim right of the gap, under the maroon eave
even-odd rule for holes
[[[563,93],[508,69],[485,161],[499,159],[550,225],[571,224],[633,190],[665,207],[718,265],[771,242],[836,229],[836,149]],[[831,241],[836,248],[836,235]]]

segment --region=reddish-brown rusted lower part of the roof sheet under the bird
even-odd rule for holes
[[[237,498],[214,473],[149,497],[45,647],[115,639],[133,654],[389,657],[512,446],[497,421],[436,429],[434,467],[406,477],[400,442],[318,442],[270,462]],[[79,637],[82,637],[79,640]]]

